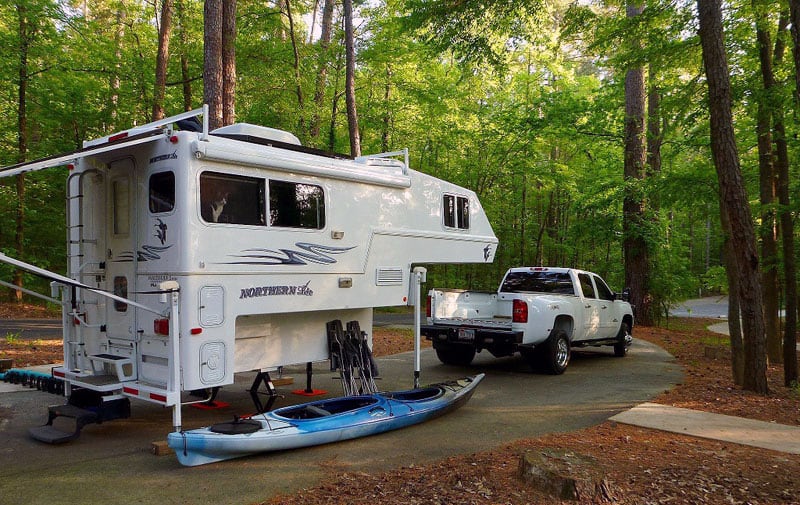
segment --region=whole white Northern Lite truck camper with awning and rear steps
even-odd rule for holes
[[[274,393],[268,372],[307,364],[310,382],[331,322],[358,332],[373,307],[419,310],[414,265],[494,259],[475,193],[411,170],[407,151],[352,159],[261,126],[209,131],[206,110],[0,170],[69,166],[66,276],[0,254],[50,278],[63,306],[54,373],[70,400],[35,438],[74,438],[97,420],[86,412],[127,417],[129,398],[172,407],[180,430],[191,392],[239,372]],[[50,426],[59,415],[79,418],[75,433]]]

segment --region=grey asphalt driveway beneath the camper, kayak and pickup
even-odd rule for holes
[[[170,410],[135,402],[132,418],[88,426],[78,440],[49,446],[28,438],[27,429],[43,424],[46,407],[61,399],[30,390],[1,393],[0,503],[259,503],[313,486],[332,468],[359,472],[419,465],[516,439],[593,426],[682,380],[674,360],[646,342],[634,341],[622,359],[614,358],[610,348],[573,356],[564,375],[548,376],[531,373],[520,358],[495,359],[486,353],[478,355],[470,368],[448,367],[425,350],[423,383],[487,374],[462,409],[375,437],[194,468],[180,466],[174,456],[154,456],[149,451],[151,442],[165,439]],[[381,388],[408,388],[412,362],[411,353],[381,358]],[[314,386],[339,395],[333,376],[322,365],[317,368]],[[288,372],[295,385],[281,389],[286,397],[276,406],[304,401],[291,393],[304,385],[303,369]],[[245,393],[251,377],[239,380],[220,393],[219,400],[231,407],[185,408],[184,427],[252,412]]]

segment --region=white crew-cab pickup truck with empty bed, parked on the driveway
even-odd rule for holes
[[[448,365],[469,365],[483,349],[519,352],[534,368],[557,375],[571,348],[608,345],[625,356],[631,344],[629,291],[616,294],[597,274],[573,268],[520,267],[495,293],[433,289],[421,333]]]

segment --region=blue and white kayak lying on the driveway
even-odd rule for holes
[[[464,405],[484,374],[408,391],[317,400],[170,433],[167,443],[186,466],[267,451],[366,437],[419,424]]]

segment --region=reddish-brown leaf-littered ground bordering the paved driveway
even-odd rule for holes
[[[20,314],[42,316],[0,308],[0,317]],[[634,338],[666,349],[685,370],[684,382],[654,401],[800,426],[800,389],[783,387],[780,366],[769,368],[767,396],[733,385],[727,338],[705,329],[715,322],[672,319],[669,328],[635,328]],[[373,342],[379,356],[413,346],[411,333],[405,330],[376,329]],[[0,358],[13,358],[14,366],[52,363],[60,356],[60,341],[0,335]],[[261,505],[570,503],[535,491],[519,477],[525,453],[559,463],[571,475],[592,483],[595,487],[581,490],[581,503],[800,504],[796,455],[606,422],[384,473],[348,473],[326,463],[330,477],[325,483]]]

